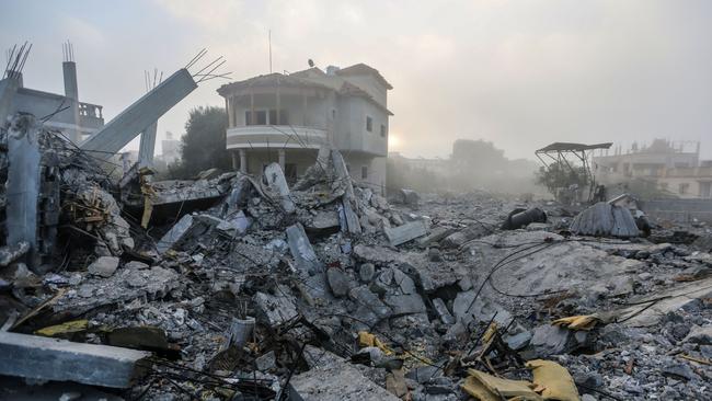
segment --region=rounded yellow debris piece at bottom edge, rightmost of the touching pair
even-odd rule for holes
[[[527,368],[531,369],[537,388],[543,389],[541,396],[544,400],[579,400],[576,383],[565,367],[552,360],[533,359],[527,363]]]

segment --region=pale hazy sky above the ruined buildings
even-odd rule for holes
[[[712,159],[712,1],[32,1],[3,0],[0,46],[30,41],[25,85],[62,92],[74,45],[80,100],[115,116],[200,48],[233,80],[366,62],[394,87],[391,150],[447,157],[482,138],[510,158],[552,141],[702,140]],[[159,122],[223,105],[218,80]],[[137,148],[137,145],[134,145]],[[160,144],[157,146],[160,152]]]

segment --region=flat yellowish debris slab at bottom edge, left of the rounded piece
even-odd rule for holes
[[[470,376],[464,380],[462,390],[482,401],[501,401],[516,398],[519,401],[542,401],[541,396],[532,389],[526,380],[502,379],[484,371],[469,369]]]

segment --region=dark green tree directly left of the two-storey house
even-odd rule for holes
[[[230,170],[231,159],[225,141],[227,127],[228,117],[222,107],[191,110],[181,139],[181,160],[169,165],[170,175],[188,179],[207,169]]]

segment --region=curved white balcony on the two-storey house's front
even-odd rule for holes
[[[326,129],[295,125],[249,125],[228,128],[228,149],[319,149],[329,144]]]

